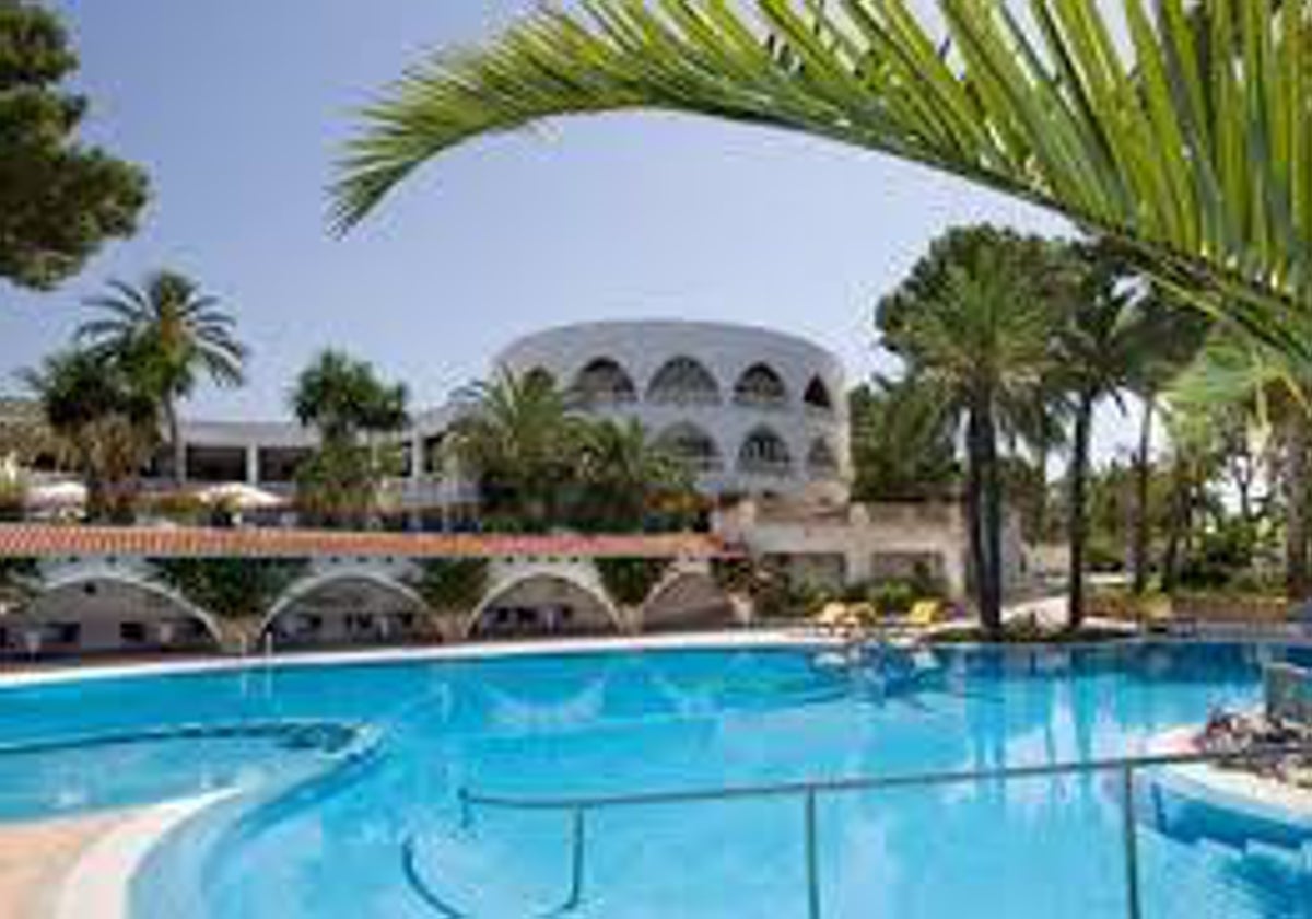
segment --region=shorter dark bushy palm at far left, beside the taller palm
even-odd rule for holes
[[[58,352],[20,377],[85,478],[88,516],[127,520],[136,478],[159,442],[155,399],[119,364],[89,351]]]

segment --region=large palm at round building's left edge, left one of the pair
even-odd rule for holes
[[[560,523],[564,492],[577,479],[583,423],[556,386],[501,372],[457,398],[463,415],[449,449],[478,475],[489,516],[535,532]]]

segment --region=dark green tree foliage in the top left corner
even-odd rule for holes
[[[28,288],[131,235],[148,198],[138,167],[77,142],[87,100],[59,88],[76,70],[54,11],[0,0],[0,277]]]

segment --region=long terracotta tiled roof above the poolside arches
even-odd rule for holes
[[[136,558],[727,558],[727,542],[705,534],[474,536],[308,529],[0,525],[0,557]]]

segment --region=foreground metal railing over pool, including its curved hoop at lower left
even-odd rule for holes
[[[564,880],[564,893],[560,905],[542,915],[563,916],[583,908],[589,902],[588,852],[589,818],[602,811],[621,809],[642,809],[661,806],[706,805],[743,800],[792,800],[799,806],[799,830],[802,835],[804,902],[807,919],[823,919],[825,915],[824,890],[820,884],[820,834],[817,803],[821,798],[840,798],[858,793],[890,789],[928,789],[958,785],[979,785],[988,782],[1014,782],[1034,779],[1059,779],[1068,776],[1106,775],[1117,779],[1120,800],[1119,857],[1123,870],[1124,905],[1128,919],[1144,919],[1140,856],[1139,818],[1136,815],[1136,775],[1145,769],[1182,765],[1220,765],[1240,761],[1270,761],[1291,755],[1312,754],[1312,746],[1266,746],[1244,752],[1228,754],[1166,754],[1156,756],[1114,758],[1080,763],[1054,763],[1043,765],[1021,765],[1001,769],[960,769],[942,772],[917,772],[880,777],[845,779],[833,781],[806,781],[777,785],[743,785],[708,788],[690,792],[655,792],[639,794],[610,794],[596,797],[510,797],[483,794],[470,789],[459,793],[459,814],[462,828],[468,830],[480,810],[497,809],[525,813],[559,813],[568,822],[568,876]],[[432,884],[425,880],[419,864],[417,840],[412,836],[403,845],[403,866],[411,885],[437,914],[457,918],[470,916],[455,905],[447,902]],[[673,910],[677,912],[677,908]]]

